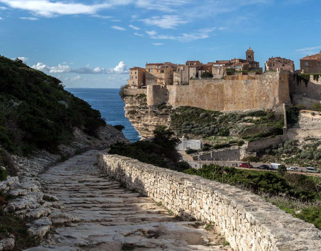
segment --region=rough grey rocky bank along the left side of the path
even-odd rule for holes
[[[104,149],[117,141],[128,141],[123,133],[111,125],[101,127],[99,138],[91,137],[82,130],[74,129],[74,138],[70,145],[59,146],[64,158],[79,154],[88,149]],[[17,176],[0,181],[0,191],[14,196],[4,207],[4,211],[30,221],[28,224],[31,236],[43,238],[52,224],[65,224],[77,221],[74,216],[64,210],[63,205],[51,194],[41,189],[39,174],[49,166],[61,161],[62,156],[39,150],[30,157],[11,155]],[[14,245],[13,235],[0,240],[0,251],[10,250]]]

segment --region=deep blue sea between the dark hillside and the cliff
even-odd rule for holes
[[[125,117],[124,101],[120,98],[119,89],[65,88],[76,97],[88,102],[93,109],[99,110],[107,124],[123,125],[123,133],[131,142],[141,138],[138,132]]]

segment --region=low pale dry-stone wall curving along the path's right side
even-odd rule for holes
[[[236,251],[319,251],[321,230],[227,184],[118,155],[97,156],[103,171],[185,220],[212,222]]]

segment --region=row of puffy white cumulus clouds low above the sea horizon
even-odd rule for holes
[[[91,68],[89,65],[86,65],[84,67],[80,67],[78,69],[73,69],[72,67],[68,65],[61,65],[58,66],[47,66],[43,63],[37,63],[36,65],[31,66],[31,68],[34,68],[36,70],[45,71],[49,73],[78,73],[78,74],[127,74],[128,69],[127,65],[124,63],[124,61],[120,61],[119,64],[114,68]]]

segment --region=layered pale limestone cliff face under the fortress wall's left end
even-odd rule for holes
[[[153,137],[153,130],[159,125],[169,126],[172,107],[168,105],[147,105],[146,98],[126,96],[125,117],[143,138]]]

